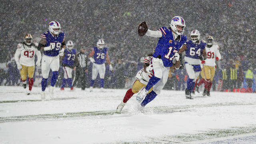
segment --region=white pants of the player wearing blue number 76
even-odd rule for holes
[[[100,78],[104,79],[106,71],[106,66],[104,64],[92,64],[92,80],[95,80],[97,78],[97,75],[100,75]]]

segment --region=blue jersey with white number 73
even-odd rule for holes
[[[73,67],[74,66],[74,61],[75,61],[75,58],[76,58],[76,49],[72,49],[70,51],[65,49],[64,54],[65,54],[65,56],[62,60],[62,64]]]

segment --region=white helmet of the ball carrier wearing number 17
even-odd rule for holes
[[[182,30],[178,30],[177,25],[182,26]],[[176,32],[176,34],[178,34],[178,35],[181,35],[184,33],[185,26],[186,26],[185,20],[181,16],[174,16],[170,23],[171,29],[174,32]]]

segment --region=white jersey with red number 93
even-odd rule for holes
[[[15,61],[19,62],[24,66],[34,66],[35,65],[34,56],[37,52],[40,53],[40,51],[37,50],[36,46],[37,46],[37,43],[31,44],[30,46],[27,46],[24,43],[18,44],[17,50],[14,55]],[[19,56],[20,56],[20,59],[19,59]]]

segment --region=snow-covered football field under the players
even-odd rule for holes
[[[185,99],[163,90],[138,112],[133,96],[115,110],[126,90],[0,86],[0,144],[256,144],[256,94],[211,92]]]

